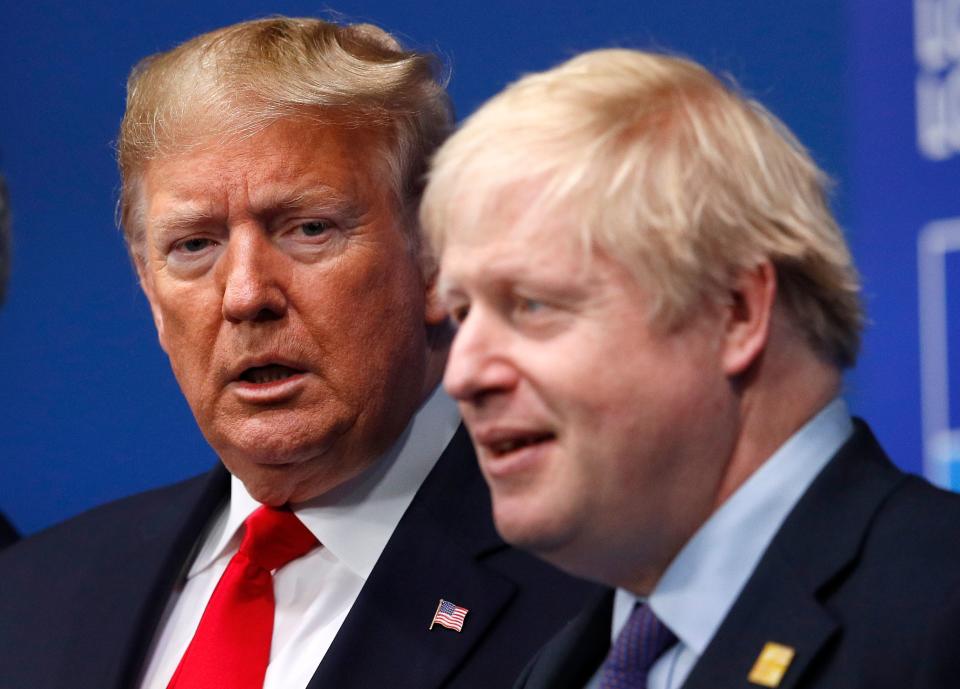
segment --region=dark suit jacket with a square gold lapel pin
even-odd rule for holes
[[[899,471],[857,422],[683,688],[756,689],[747,675],[768,641],[796,650],[780,689],[909,687],[929,653],[930,621],[958,582],[960,496]],[[592,601],[517,687],[582,689],[609,648],[612,600],[608,591]]]

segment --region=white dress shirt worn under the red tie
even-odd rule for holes
[[[456,405],[438,387],[371,469],[319,498],[293,506],[321,546],[273,576],[276,611],[264,689],[307,686],[400,518],[459,424]],[[240,547],[243,522],[259,506],[233,477],[228,504],[200,542],[186,581],[167,603],[142,689],[166,689],[220,576]]]

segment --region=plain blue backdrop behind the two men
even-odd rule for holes
[[[875,422],[903,466],[921,469],[917,241],[931,220],[960,215],[947,192],[960,163],[942,155],[960,137],[944,134],[936,161],[918,152],[909,2],[345,0],[336,10],[439,51],[460,115],[523,72],[601,46],[666,48],[731,73],[838,181],[836,208],[873,316],[850,381],[854,410]],[[215,461],[156,344],[114,226],[111,142],[129,68],[227,23],[324,12],[242,0],[3,8],[0,168],[15,245],[0,312],[0,508],[21,530]],[[946,66],[930,63],[937,83],[949,81],[955,52],[944,47]],[[960,111],[960,84],[945,101]],[[948,278],[957,273],[955,261],[943,261]]]

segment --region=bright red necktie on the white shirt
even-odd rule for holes
[[[273,638],[273,570],[317,539],[289,510],[262,506],[247,517],[193,640],[167,689],[262,689]]]

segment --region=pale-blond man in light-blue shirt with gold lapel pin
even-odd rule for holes
[[[527,76],[421,221],[503,537],[610,589],[518,686],[909,686],[960,498],[850,418],[859,281],[786,127],[685,59]]]

